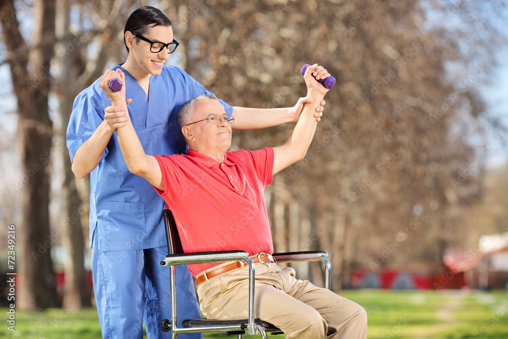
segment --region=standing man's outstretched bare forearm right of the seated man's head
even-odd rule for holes
[[[234,130],[254,130],[277,126],[291,122],[295,115],[291,107],[285,108],[248,108],[233,107],[235,122],[231,127]]]

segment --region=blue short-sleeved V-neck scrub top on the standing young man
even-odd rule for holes
[[[113,70],[123,64],[116,65]],[[185,140],[177,122],[178,109],[207,91],[181,68],[164,66],[150,77],[149,100],[138,82],[125,73],[129,115],[146,154],[183,153]],[[78,147],[104,120],[111,102],[97,79],[74,100],[67,148],[71,161]],[[220,101],[228,115],[233,108]],[[100,251],[141,250],[166,245],[164,200],[144,178],[129,172],[113,133],[99,165],[90,173],[90,248]]]

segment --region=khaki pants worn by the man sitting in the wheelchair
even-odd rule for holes
[[[248,318],[248,268],[216,276],[198,286],[201,312],[208,319]],[[255,318],[280,328],[286,338],[366,338],[362,306],[274,263],[256,264]]]

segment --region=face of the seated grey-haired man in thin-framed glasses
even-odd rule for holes
[[[196,103],[192,121],[206,119],[212,115],[227,116],[227,113],[217,100],[203,99]],[[218,124],[204,120],[182,128],[190,149],[217,161],[224,160],[224,153],[231,146],[231,132],[231,125],[225,119],[221,119]]]

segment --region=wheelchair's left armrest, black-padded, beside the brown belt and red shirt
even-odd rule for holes
[[[183,254],[169,254],[161,261],[162,266],[199,264],[209,262],[238,261],[245,260],[249,254],[245,251],[217,251],[217,252],[195,252]]]

